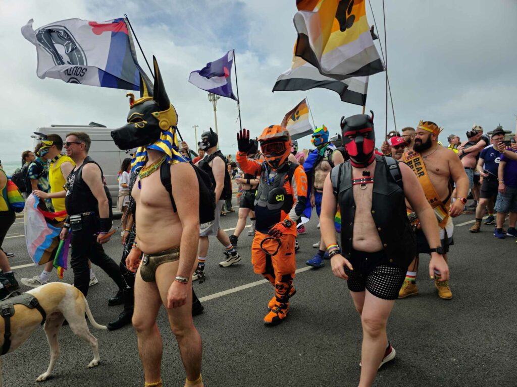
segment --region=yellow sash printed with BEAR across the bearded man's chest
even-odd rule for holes
[[[425,164],[420,153],[415,152],[413,149],[411,149],[404,153],[402,160],[417,175],[418,182],[423,188],[425,198],[433,208],[439,226],[441,228],[444,228],[447,224],[447,220],[449,219],[450,196],[449,200],[445,204],[438,197],[438,194],[434,189],[433,183],[431,183],[431,180],[429,179],[427,169],[425,169]]]

